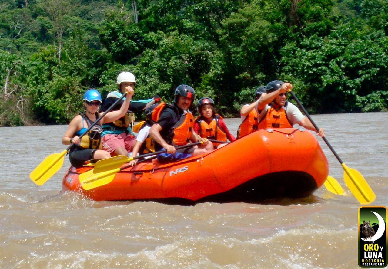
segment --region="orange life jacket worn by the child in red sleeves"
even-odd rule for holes
[[[199,124],[199,136],[207,139],[214,139],[220,141],[226,141],[226,133],[221,129],[218,124],[218,120],[222,117],[218,114],[215,114],[213,120],[210,123],[205,122],[201,117],[197,117],[195,121]],[[217,147],[220,143],[213,142],[213,145]]]

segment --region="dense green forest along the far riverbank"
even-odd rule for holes
[[[0,126],[68,123],[120,71],[236,115],[279,79],[312,113],[386,111],[386,0],[0,0]]]

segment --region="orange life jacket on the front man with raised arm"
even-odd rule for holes
[[[258,129],[267,128],[292,128],[291,123],[287,118],[287,102],[279,110],[275,110],[271,105],[268,106],[267,113],[260,120]]]

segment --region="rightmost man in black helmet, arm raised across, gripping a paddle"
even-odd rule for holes
[[[288,82],[271,81],[267,84],[267,94],[257,103],[260,115],[258,129],[291,128],[299,124],[308,130],[316,131],[308,118],[300,110],[287,101],[287,92],[293,86]],[[322,128],[317,132],[320,137],[325,133]]]

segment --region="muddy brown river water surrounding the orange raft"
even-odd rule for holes
[[[388,113],[312,115],[351,168],[388,206]],[[236,134],[239,119],[226,119]],[[345,195],[324,187],[298,200],[262,204],[95,202],[62,192],[64,165],[37,187],[29,173],[61,152],[67,125],[0,128],[0,268],[358,268],[360,204],[322,139],[330,175]]]

